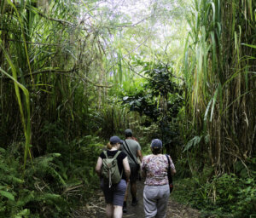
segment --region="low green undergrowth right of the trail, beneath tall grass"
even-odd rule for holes
[[[249,160],[251,164],[247,169],[241,169],[238,163],[236,174],[212,175],[209,168],[191,178],[179,178],[175,181],[172,198],[201,209],[203,217],[255,218],[255,160]]]

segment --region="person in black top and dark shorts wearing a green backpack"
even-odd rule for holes
[[[100,154],[96,164],[96,174],[101,178],[101,187],[107,203],[106,215],[108,218],[121,218],[123,216],[123,202],[125,198],[125,190],[129,182],[131,170],[128,163],[128,158],[125,152],[119,151],[120,144],[123,141],[118,136],[112,136],[108,143],[108,150]],[[108,157],[106,157],[106,155]],[[106,164],[107,161],[116,161],[118,175],[112,175],[112,178],[106,180]],[[108,162],[109,163],[109,162]],[[108,165],[108,164],[107,164]],[[113,184],[116,176],[119,176],[119,182]],[[111,176],[110,176],[111,177]]]

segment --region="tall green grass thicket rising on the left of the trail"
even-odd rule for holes
[[[67,139],[73,129],[81,134],[89,105],[93,108],[106,98],[101,36],[97,27],[95,32],[87,32],[87,24],[78,20],[82,11],[93,14],[92,7],[96,9],[93,4],[63,1],[44,6],[27,1],[0,3],[2,136],[8,145],[20,137],[21,128],[26,129],[25,164],[31,144],[34,155],[44,154],[45,141],[38,139],[46,122],[67,122]],[[15,92],[9,81],[15,81]],[[4,135],[8,129],[15,131]]]

